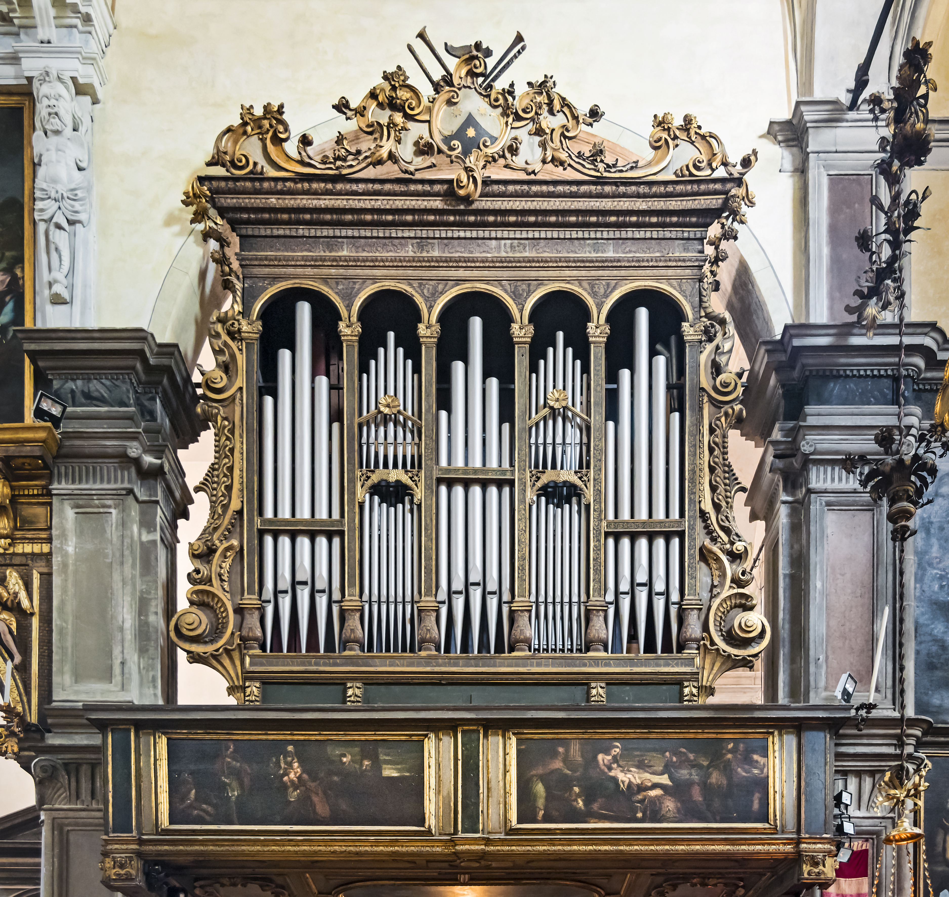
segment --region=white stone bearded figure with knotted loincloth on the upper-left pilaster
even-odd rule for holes
[[[47,66],[33,79],[33,95],[37,291],[46,293],[52,305],[66,305],[74,279],[77,229],[84,230],[89,223],[89,188],[83,174],[89,148],[76,91],[67,75]]]

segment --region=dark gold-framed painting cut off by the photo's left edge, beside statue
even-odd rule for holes
[[[0,95],[0,423],[24,420],[26,364],[14,327],[32,324],[28,273],[31,98]]]

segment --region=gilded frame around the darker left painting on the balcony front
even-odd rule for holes
[[[190,823],[173,824],[170,821],[171,799],[170,785],[172,770],[169,764],[168,742],[170,740],[184,741],[281,741],[284,743],[303,744],[308,742],[392,742],[418,741],[422,745],[422,801],[424,823],[421,826],[411,825],[341,825],[341,824],[216,824]],[[144,771],[143,771],[144,772]],[[252,732],[229,731],[208,732],[195,734],[188,731],[165,731],[155,735],[154,752],[155,786],[155,823],[158,834],[177,834],[180,832],[220,832],[240,833],[243,835],[272,834],[274,832],[321,832],[331,834],[435,834],[435,803],[436,803],[436,776],[435,776],[435,733],[430,731],[398,731],[398,732]]]

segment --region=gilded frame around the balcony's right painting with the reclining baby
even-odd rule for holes
[[[767,742],[767,786],[768,797],[767,821],[755,822],[645,822],[621,820],[610,821],[525,821],[518,819],[518,803],[520,796],[520,781],[517,769],[518,745],[530,741],[570,741],[570,742],[628,742],[628,741],[667,741],[677,746],[685,741],[698,740],[765,740]],[[584,832],[646,832],[659,829],[663,832],[709,832],[709,831],[741,831],[741,832],[777,832],[778,807],[781,795],[778,794],[779,780],[776,775],[778,768],[778,731],[776,729],[731,729],[716,728],[707,731],[690,730],[684,732],[670,732],[668,729],[644,728],[636,732],[587,730],[587,731],[526,731],[511,730],[507,733],[506,744],[506,813],[508,832],[542,832],[550,830],[578,830]],[[526,774],[525,774],[526,775]],[[589,808],[585,808],[587,811]]]

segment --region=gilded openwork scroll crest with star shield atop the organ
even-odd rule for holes
[[[345,176],[392,163],[401,174],[415,175],[435,166],[441,156],[458,166],[456,196],[473,201],[493,165],[526,175],[553,166],[588,178],[649,178],[668,167],[682,143],[691,144],[697,152],[675,170],[677,178],[708,177],[718,169],[741,176],[757,159],[753,150],[735,165],[717,135],[702,130],[694,115],[683,116],[677,124],[666,112],[653,117],[652,157],[609,161],[603,140],[595,141],[588,151],[572,142],[585,125],[604,117],[599,106],[582,112],[556,90],[557,83],[549,75],[529,81],[528,89],[515,96],[512,87],[499,88],[493,78],[486,77],[485,56],[491,55],[490,49],[478,43],[457,49],[463,55],[451,77],[431,79],[435,92],[428,97],[408,83],[408,75],[398,65],[394,71],[383,71],[381,83],[357,105],[340,98],[333,108],[355,121],[359,130],[352,140],[338,134],[328,153],[314,154],[313,138],[306,133],[297,140],[295,154],[288,152],[291,128],[284,118],[284,105],[266,103],[260,114],[253,106],[241,106],[239,123],[218,135],[208,165],[219,165],[232,175],[273,171]],[[530,149],[525,150],[528,141]]]

